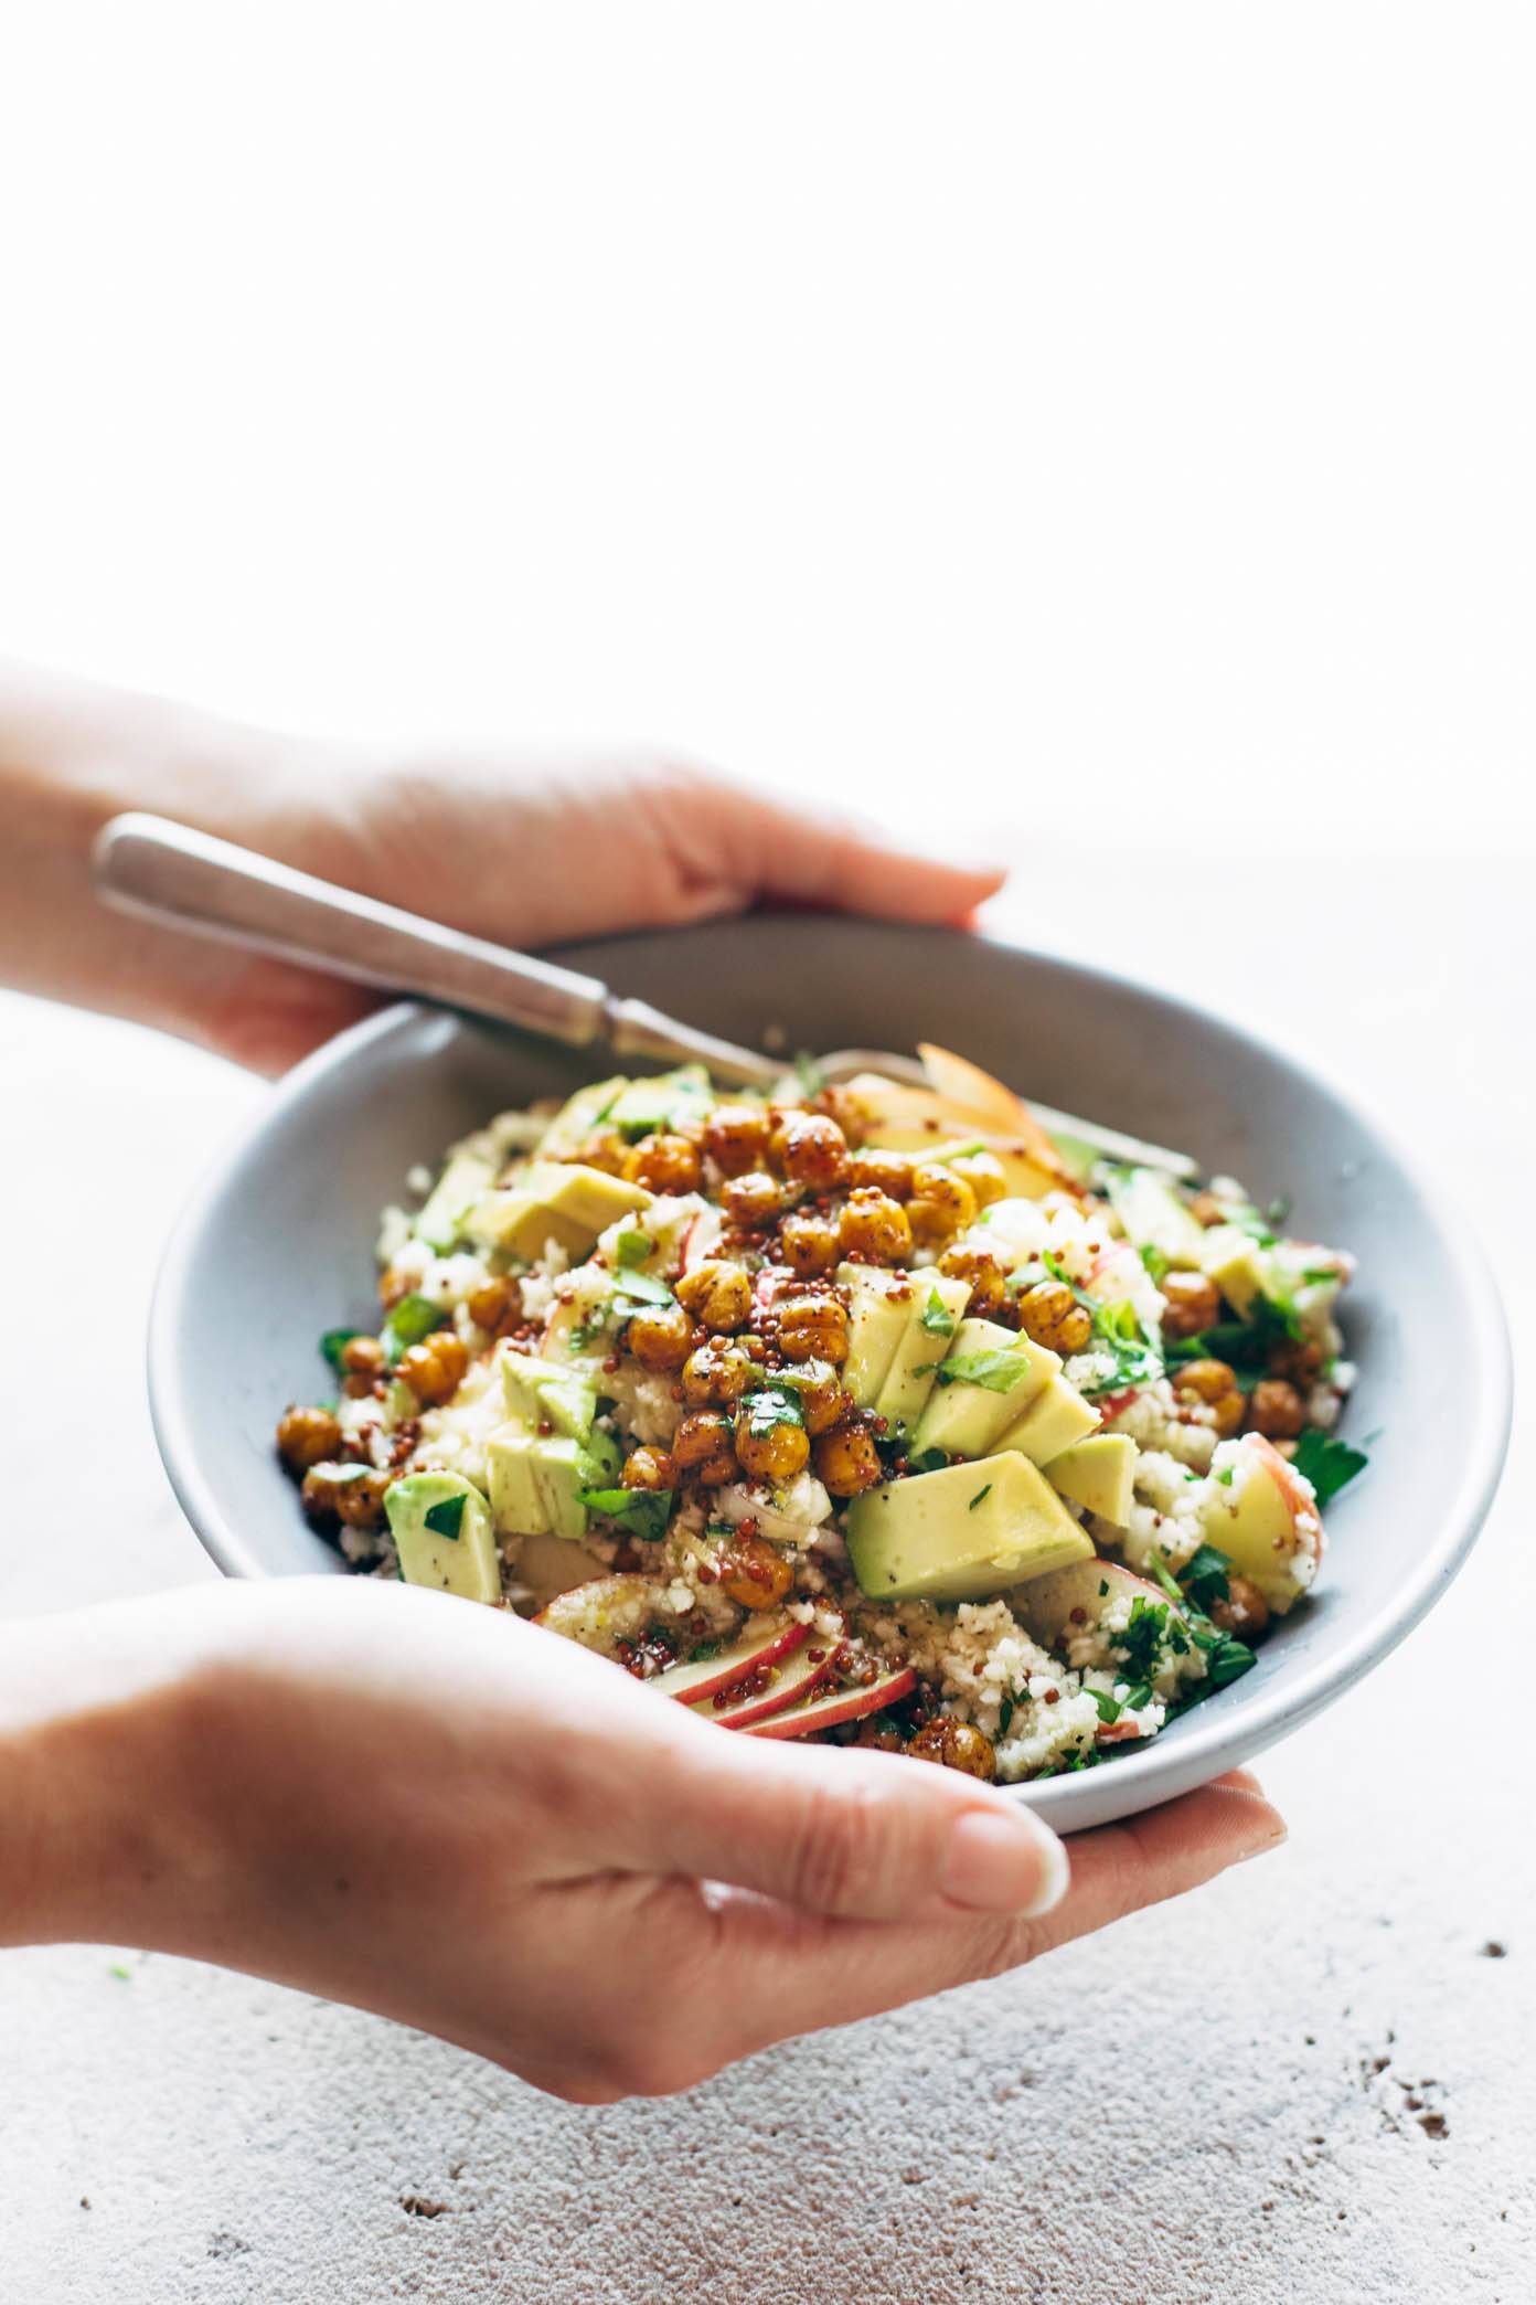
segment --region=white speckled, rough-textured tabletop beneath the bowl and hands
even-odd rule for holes
[[[1239,987],[1416,1132],[1485,1238],[1536,1129],[1536,950],[1506,869],[1363,869],[1343,954]],[[99,1199],[111,1129],[113,1240],[106,1293],[99,1222],[9,1249],[28,1351],[46,1332],[76,1374],[12,1450],[0,1607],[205,1577],[154,1459],[138,1339],[166,1226],[263,1090],[18,1000],[0,1063],[28,1116],[0,1155],[7,1199],[44,1176],[51,1208]],[[1515,1219],[1497,1247],[1520,1339],[1536,1252]],[[573,2111],[350,2010],[131,1948],[0,1957],[0,2298],[1527,2305],[1534,1471],[1527,1415],[1446,1604],[1264,1763],[1285,1851],[684,2100]],[[1472,1673],[1476,1738],[1444,1731],[1446,1655]]]

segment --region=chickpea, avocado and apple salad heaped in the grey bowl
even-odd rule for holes
[[[1352,1259],[921,1056],[596,1081],[412,1176],[276,1429],[306,1514],[728,1729],[999,1782],[1248,1671],[1366,1461]]]

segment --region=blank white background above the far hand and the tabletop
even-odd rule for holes
[[[919,830],[1531,841],[1527,7],[0,32],[0,634]]]

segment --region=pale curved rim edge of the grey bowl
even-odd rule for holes
[[[592,938],[592,943],[613,940],[617,938]],[[1057,1809],[1071,1812],[1071,1816],[1064,1814],[1052,1821],[1064,1830],[1078,1830],[1089,1823],[1135,1814],[1158,1800],[1191,1791],[1193,1786],[1207,1784],[1211,1777],[1221,1775],[1221,1770],[1234,1768],[1244,1759],[1271,1747],[1340,1696],[1363,1671],[1384,1662],[1400,1646],[1400,1641],[1405,1641],[1407,1634],[1423,1623],[1430,1607],[1439,1600],[1467,1560],[1467,1554],[1472,1551],[1492,1507],[1508,1452],[1513,1420],[1513,1362],[1504,1305],[1499,1300],[1488,1256],[1474,1238],[1472,1226],[1460,1215],[1453,1219],[1444,1189],[1430,1173],[1425,1173],[1419,1157],[1407,1152],[1396,1132],[1384,1127],[1370,1106],[1361,1102],[1352,1088],[1333,1079],[1326,1067],[1301,1056],[1287,1046],[1285,1040],[1278,1040],[1271,1033],[1257,1033],[1237,1017],[1223,1014],[1204,1003],[1188,1000],[1186,996],[1172,993],[1140,975],[1133,977],[1124,970],[1105,968],[1103,963],[1059,950],[1029,945],[1020,938],[983,934],[981,943],[997,945],[1004,952],[1020,954],[1022,959],[1039,961],[1048,968],[1066,970],[1110,991],[1151,998],[1161,1007],[1177,1012],[1195,1028],[1216,1028],[1221,1033],[1237,1035],[1262,1056],[1278,1060],[1283,1067],[1294,1070],[1320,1088],[1361,1127],[1363,1134],[1372,1136],[1389,1159],[1402,1171],[1407,1185],[1446,1242],[1451,1268],[1455,1270],[1465,1293],[1465,1305],[1458,1314],[1462,1321],[1462,1358],[1474,1374],[1474,1418],[1465,1431],[1460,1480],[1453,1501],[1439,1531],[1425,1544],[1405,1581],[1393,1588],[1384,1607],[1377,1609],[1370,1620],[1340,1648],[1320,1657],[1315,1664],[1299,1667],[1294,1673],[1280,1673],[1273,1687],[1255,1692],[1246,1703],[1239,1701],[1232,1713],[1211,1713],[1207,1717],[1186,1715],[1177,1740],[1165,1743],[1163,1736],[1151,1738],[1142,1749],[1121,1754],[1115,1768],[1066,1773],[1062,1777],[1009,1786],[1009,1791],[1027,1798],[1029,1805],[1043,1816],[1052,1816]],[[184,1203],[166,1242],[150,1305],[150,1418],[170,1489],[205,1551],[228,1577],[267,1577],[274,1572],[263,1565],[258,1551],[226,1519],[219,1496],[203,1473],[193,1443],[177,1355],[177,1332],[189,1302],[193,1256],[212,1212],[228,1192],[235,1173],[249,1159],[253,1143],[283,1113],[288,1113],[295,1104],[302,1104],[318,1079],[345,1067],[364,1049],[403,1033],[408,1026],[431,1014],[444,1012],[424,1000],[394,1000],[371,1017],[364,1017],[359,1023],[348,1026],[343,1033],[322,1042],[306,1058],[302,1058],[292,1072],[276,1083],[256,1123],[246,1123],[216,1155],[214,1164]],[[474,1017],[463,1017],[461,1021],[477,1023]]]

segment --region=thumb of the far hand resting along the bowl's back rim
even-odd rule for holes
[[[725,804],[718,786],[698,811],[677,811],[668,830],[689,867],[693,917],[774,897],[884,920],[963,922],[1006,878],[999,867],[917,855],[811,802],[788,809],[744,791]]]

